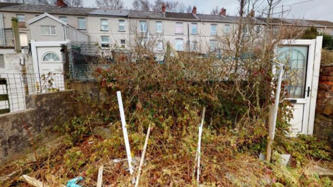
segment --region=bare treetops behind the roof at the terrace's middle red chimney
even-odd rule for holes
[[[165,1],[165,0],[155,0],[154,5],[152,5],[153,11],[161,11],[162,5],[166,6],[166,12],[185,12],[185,5],[179,1]]]

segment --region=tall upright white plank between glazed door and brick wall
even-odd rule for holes
[[[313,134],[314,117],[316,113],[316,102],[319,82],[319,70],[321,61],[321,46],[323,43],[323,37],[317,36],[315,46],[315,57],[313,65],[313,76],[312,76],[312,87],[311,87],[311,98],[310,98],[310,111],[309,111],[309,123],[307,134]]]

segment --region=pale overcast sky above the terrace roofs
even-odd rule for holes
[[[133,0],[123,0],[125,7],[131,9]],[[150,0],[154,2],[154,0]],[[181,1],[181,0],[180,0]],[[182,0],[185,6],[196,6],[198,13],[209,14],[210,10],[216,6],[227,9],[227,14],[234,16],[237,14],[238,0]],[[261,3],[260,9],[267,5],[267,0],[258,0]],[[94,0],[84,0],[85,7],[91,7],[95,4]],[[293,5],[292,5],[293,4]],[[333,22],[333,0],[282,0],[274,9],[274,12],[285,12],[287,18],[305,18],[313,20],[327,20]],[[278,16],[276,14],[275,16]]]

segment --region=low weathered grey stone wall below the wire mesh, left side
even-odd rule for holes
[[[31,149],[26,123],[36,144],[53,135],[53,126],[74,116],[72,90],[26,95],[27,109],[0,115],[0,164]],[[24,121],[24,122],[23,122]]]

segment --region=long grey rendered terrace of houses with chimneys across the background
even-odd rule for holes
[[[153,42],[156,51],[163,51],[166,42],[178,50],[209,52],[216,51],[216,36],[231,33],[238,17],[228,16],[225,9],[219,15],[197,14],[194,6],[191,13],[135,10],[103,10],[84,7],[68,7],[63,0],[57,6],[0,3],[0,29],[11,28],[11,18],[19,21],[21,46],[28,46],[30,40],[53,41],[62,27],[52,22],[40,23],[32,29],[28,21],[48,13],[66,23],[69,27],[86,34],[89,41],[98,42],[103,48],[120,47],[131,49],[135,43]],[[264,18],[254,18],[255,31],[260,33],[265,25]],[[45,21],[44,21],[45,22]],[[291,19],[274,19],[273,25],[294,24]],[[329,21],[301,20],[303,26],[314,26],[318,32],[333,33]],[[246,33],[246,31],[244,31]],[[66,37],[59,37],[68,40]]]

